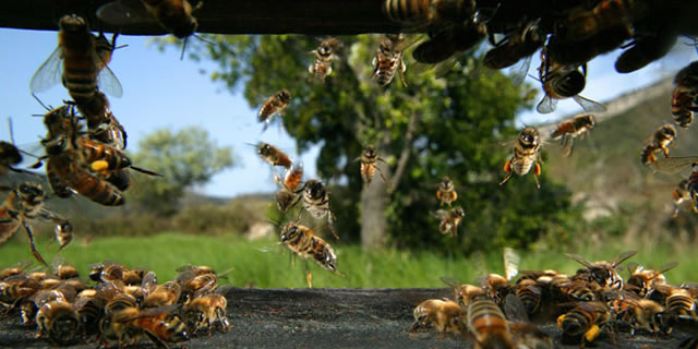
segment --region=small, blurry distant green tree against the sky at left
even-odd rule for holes
[[[217,146],[208,132],[198,127],[153,132],[139,142],[139,152],[132,160],[164,176],[140,181],[133,191],[140,208],[159,215],[176,213],[186,189],[205,184],[233,165],[231,148]]]

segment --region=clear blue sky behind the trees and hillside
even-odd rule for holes
[[[198,191],[233,196],[275,190],[269,166],[258,159],[254,148],[245,143],[268,142],[298,158],[293,140],[275,125],[262,133],[262,125],[256,122],[256,110],[248,106],[240,93],[232,95],[221,84],[213,83],[207,74],[200,73],[202,69],[215,70],[214,63],[180,61],[178,50],[160,52],[147,45],[149,40],[143,36],[120,36],[118,44],[128,44],[129,47],[117,50],[109,65],[124,91],[122,98],[109,99],[111,110],[129,133],[129,149],[137,151],[137,142],[157,129],[179,130],[198,125],[207,130],[218,145],[231,146],[237,160],[234,168],[216,176]],[[1,140],[9,139],[7,117],[12,117],[19,145],[36,143],[46,133],[41,119],[31,117],[45,111],[31,96],[28,84],[57,43],[56,32],[0,29],[0,46],[5,48],[0,55],[0,67],[3,68],[0,81]],[[696,55],[687,46],[679,45],[678,49],[679,52],[672,58],[625,75],[615,73],[613,68],[617,51],[597,58],[589,63],[587,88],[581,95],[603,101],[674,74]],[[309,62],[311,58],[309,55]],[[538,64],[534,59],[530,73]],[[409,68],[407,74],[409,80]],[[528,81],[538,86],[537,82]],[[39,98],[47,105],[58,106],[69,96],[65,88],[57,85],[39,94]],[[554,113],[541,116],[528,111],[519,116],[519,121],[526,124],[554,121],[580,111],[580,107],[569,99],[561,101]],[[306,178],[316,176],[314,159],[317,153],[317,147],[311,148],[301,157]]]

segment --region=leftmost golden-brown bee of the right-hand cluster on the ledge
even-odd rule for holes
[[[458,303],[447,299],[428,299],[419,303],[412,311],[414,323],[410,326],[410,332],[422,327],[433,326],[443,338],[444,333],[462,334],[464,310]]]

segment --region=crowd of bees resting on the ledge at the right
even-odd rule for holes
[[[513,263],[518,260],[510,256],[513,250],[505,253],[509,254],[507,268],[518,267]],[[630,263],[624,282],[618,266],[635,254],[628,251],[611,262],[568,254],[583,266],[575,275],[526,270],[514,280],[490,274],[480,278],[480,285],[442,278],[454,288],[454,300],[430,299],[418,304],[409,330],[435,327],[440,338],[453,333],[473,340],[476,348],[553,348],[553,338],[535,325],[543,322],[557,324],[563,344],[581,347],[599,337],[615,342],[618,330],[655,338],[667,336],[673,328],[694,330],[698,288],[667,282],[664,273],[675,262],[657,269]]]

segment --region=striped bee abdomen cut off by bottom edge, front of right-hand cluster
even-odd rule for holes
[[[474,336],[474,348],[514,348],[504,313],[488,298],[474,299],[468,306],[468,328]]]

